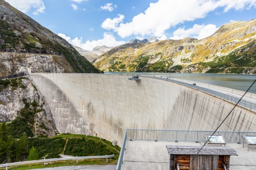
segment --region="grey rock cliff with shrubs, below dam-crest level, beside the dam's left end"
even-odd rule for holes
[[[14,127],[22,129],[24,127],[20,127],[20,122],[25,122],[34,136],[54,136],[57,130],[43,104],[28,78],[0,80],[0,123],[12,122]]]

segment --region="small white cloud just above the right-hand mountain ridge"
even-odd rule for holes
[[[179,28],[174,31],[174,36],[170,37],[170,39],[183,39],[186,37],[193,37],[197,39],[202,39],[214,34],[219,28],[216,28],[216,25],[208,24],[208,25],[197,25],[195,24],[193,28],[189,28],[185,30],[185,28]]]

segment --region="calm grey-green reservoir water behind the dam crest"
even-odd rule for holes
[[[246,91],[256,75],[233,75],[233,74],[201,74],[201,73],[160,73],[160,72],[105,72],[105,74],[133,74],[146,76],[162,76],[185,79],[195,82],[207,83],[241,91]],[[256,83],[250,88],[249,92],[256,93]]]

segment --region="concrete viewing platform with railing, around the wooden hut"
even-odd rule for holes
[[[169,169],[170,156],[166,145],[202,147],[206,141],[204,134],[209,133],[212,131],[127,129],[116,169]],[[219,131],[216,134],[222,134],[227,142],[226,147],[238,154],[230,156],[229,169],[256,169],[256,145],[250,146],[249,151],[247,143],[243,147],[243,135],[256,136],[256,132]],[[219,144],[211,146],[220,147]]]

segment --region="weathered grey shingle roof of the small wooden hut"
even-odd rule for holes
[[[196,155],[202,147],[166,145],[167,151],[172,155]],[[238,155],[236,151],[228,147],[205,146],[198,155]]]

